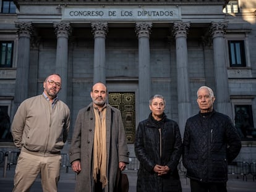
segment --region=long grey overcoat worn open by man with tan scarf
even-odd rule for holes
[[[77,174],[75,191],[92,192],[93,182],[93,138],[95,131],[95,115],[92,103],[81,109],[77,115],[72,142],[69,149],[70,162],[80,160],[81,172]],[[122,124],[121,112],[106,106],[107,131],[107,177],[108,185],[105,192],[114,191],[118,163],[129,163],[129,151],[126,144],[126,134]]]

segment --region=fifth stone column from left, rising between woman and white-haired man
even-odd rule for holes
[[[177,99],[179,128],[184,135],[186,120],[191,115],[188,56],[187,56],[187,33],[190,23],[174,23],[173,31],[176,39],[176,67],[177,67]]]

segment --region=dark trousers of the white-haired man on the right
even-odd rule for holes
[[[227,192],[226,183],[202,183],[190,179],[191,192]]]

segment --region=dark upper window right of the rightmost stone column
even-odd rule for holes
[[[246,67],[244,41],[228,41],[230,67]]]

